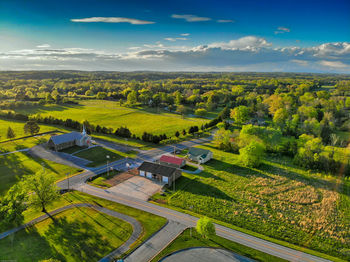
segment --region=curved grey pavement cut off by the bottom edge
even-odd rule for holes
[[[229,250],[208,247],[188,248],[174,252],[160,262],[254,262]]]

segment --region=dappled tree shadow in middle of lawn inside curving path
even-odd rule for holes
[[[89,223],[68,221],[64,217],[51,223],[45,236],[74,261],[96,261],[113,249]]]

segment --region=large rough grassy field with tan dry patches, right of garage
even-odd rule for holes
[[[291,159],[269,158],[258,169],[209,146],[213,160],[198,175],[183,174],[168,205],[350,259],[350,181],[312,174]]]

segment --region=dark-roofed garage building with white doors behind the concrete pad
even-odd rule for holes
[[[181,170],[175,167],[152,162],[143,162],[138,167],[139,175],[161,183],[172,185],[173,181],[181,177]]]

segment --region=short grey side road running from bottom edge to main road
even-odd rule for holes
[[[154,258],[160,250],[173,241],[186,228],[185,225],[170,220],[168,224],[132,252],[125,262],[148,262]],[[181,261],[181,260],[178,260]]]

